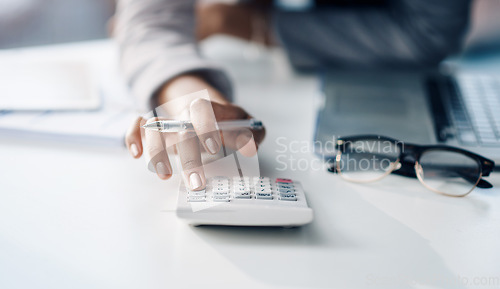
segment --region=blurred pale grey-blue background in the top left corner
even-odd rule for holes
[[[108,37],[114,0],[0,0],[0,48]]]

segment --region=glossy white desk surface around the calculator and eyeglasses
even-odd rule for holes
[[[160,181],[124,149],[1,138],[0,288],[500,287],[499,175],[495,189],[450,198],[397,176],[347,183],[308,151],[282,158],[313,169],[277,171],[279,137],[312,141],[318,80],[291,73],[280,52],[248,61],[232,46],[204,49],[229,67],[237,103],[266,124],[262,174],[300,180],[314,222],[190,227],[175,216],[179,178]]]

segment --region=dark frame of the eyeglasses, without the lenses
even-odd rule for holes
[[[476,187],[482,188],[482,189],[489,189],[493,188],[493,185],[489,183],[488,181],[484,180],[483,177],[487,177],[490,175],[490,173],[493,171],[495,167],[495,162],[485,158],[481,155],[478,155],[476,153],[473,153],[471,151],[453,147],[453,146],[448,146],[448,145],[418,145],[418,144],[412,144],[412,143],[404,143],[400,140],[386,137],[386,136],[380,136],[380,135],[355,135],[355,136],[346,136],[346,137],[339,137],[336,142],[336,150],[337,154],[335,156],[335,163],[332,164],[329,168],[328,171],[332,173],[337,173],[338,175],[342,176],[342,170],[340,169],[340,160],[342,158],[342,154],[346,152],[346,144],[347,143],[353,143],[356,141],[366,141],[366,140],[377,140],[377,141],[389,141],[394,143],[398,149],[399,149],[399,156],[397,159],[391,164],[391,168],[387,170],[383,175],[380,177],[373,179],[373,180],[350,180],[347,179],[348,181],[355,182],[355,183],[371,183],[371,182],[376,182],[379,181],[386,176],[390,174],[395,174],[395,175],[400,175],[404,177],[409,177],[409,178],[417,178],[420,183],[426,187],[427,189],[441,194],[445,196],[450,196],[450,197],[465,197],[468,194],[470,194]],[[405,150],[408,150],[409,152],[405,152]],[[438,191],[434,188],[429,187],[424,180],[421,178],[421,176],[417,173],[418,166],[421,167],[420,165],[420,158],[425,152],[431,151],[431,150],[442,150],[442,151],[449,151],[449,152],[455,152],[455,153],[460,153],[462,155],[468,156],[471,159],[475,160],[478,163],[479,167],[479,176],[474,186],[472,189],[470,189],[467,193],[461,194],[461,195],[452,195],[452,194],[447,194],[445,192]],[[413,162],[409,161],[404,161],[406,157],[411,156],[414,159]],[[399,165],[399,167],[398,167]],[[410,166],[413,165],[413,168],[410,168]],[[346,178],[344,178],[346,179]]]

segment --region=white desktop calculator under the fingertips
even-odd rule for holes
[[[205,190],[190,191],[181,183],[177,216],[188,224],[296,227],[310,223],[299,182],[268,177],[213,177]]]

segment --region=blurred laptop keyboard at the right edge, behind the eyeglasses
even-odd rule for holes
[[[457,75],[452,118],[465,145],[500,146],[500,77]]]

